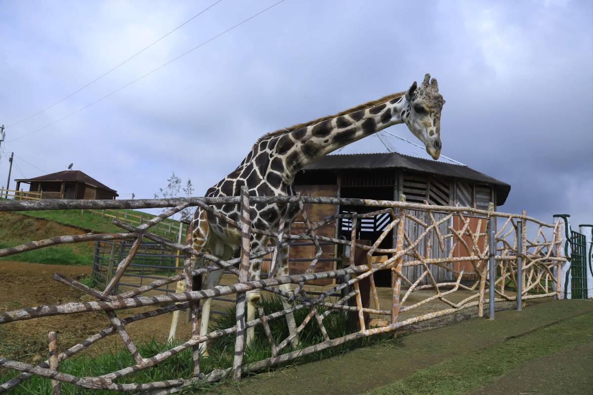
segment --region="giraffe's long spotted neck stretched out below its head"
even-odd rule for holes
[[[292,184],[297,172],[309,163],[386,127],[403,123],[407,115],[409,102],[401,96],[284,134],[275,147],[284,162],[283,182]]]

